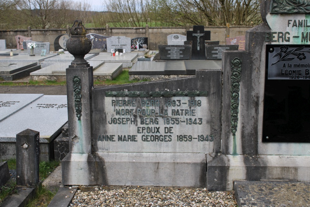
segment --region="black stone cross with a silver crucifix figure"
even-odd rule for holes
[[[210,34],[203,25],[194,25],[193,31],[186,32],[186,39],[192,40],[192,60],[206,60],[205,40],[210,40]]]

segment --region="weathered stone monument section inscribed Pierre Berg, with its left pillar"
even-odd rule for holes
[[[69,42],[81,47],[71,38],[69,52]],[[87,50],[72,53],[77,58]],[[62,160],[64,185],[206,185],[206,153],[220,152],[220,70],[92,89],[91,67],[73,64],[67,69],[71,141]]]

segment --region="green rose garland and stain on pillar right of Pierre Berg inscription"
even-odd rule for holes
[[[232,74],[231,74],[231,105],[230,105],[230,122],[231,132],[233,137],[232,154],[237,155],[237,141],[236,132],[238,126],[238,113],[239,113],[239,92],[240,92],[240,80],[241,80],[241,64],[242,61],[239,58],[232,60]]]

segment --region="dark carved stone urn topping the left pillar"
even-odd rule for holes
[[[67,50],[74,56],[71,65],[85,65],[84,56],[91,51],[91,41],[86,37],[86,29],[82,20],[75,20],[70,30],[71,38],[67,41]]]

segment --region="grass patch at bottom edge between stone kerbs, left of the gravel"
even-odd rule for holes
[[[51,202],[55,194],[56,192],[47,190],[47,188],[40,183],[36,189],[36,195],[29,201],[26,207],[46,207]]]

